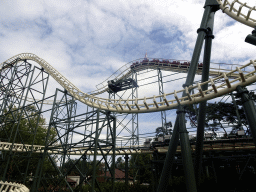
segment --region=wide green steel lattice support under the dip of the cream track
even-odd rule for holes
[[[72,191],[73,189],[67,183],[66,177],[71,171],[76,171],[80,174],[80,187],[85,182],[92,187],[92,190],[96,187],[100,188],[97,179],[99,175],[96,175],[96,170],[98,168],[104,169],[103,165],[110,170],[110,179],[114,182],[116,118],[109,112],[94,110],[93,108],[88,109],[87,113],[76,114],[74,98],[66,91],[58,89],[51,111],[43,162],[47,159],[51,161],[59,175],[52,185],[67,185]],[[49,132],[52,130],[55,130],[58,136],[56,140],[50,142]],[[102,139],[101,135],[105,135],[107,132],[109,138]],[[50,151],[59,151],[59,153],[51,155]],[[74,153],[79,154],[75,160],[72,159]],[[100,158],[98,158],[99,155]],[[108,160],[108,156],[111,156],[112,161]],[[87,160],[90,161],[91,157],[92,161],[89,167]],[[67,165],[69,166],[67,167]],[[40,180],[43,183],[45,173],[42,173],[42,170],[40,172]]]

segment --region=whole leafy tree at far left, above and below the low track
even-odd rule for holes
[[[46,119],[33,105],[24,108],[9,107],[0,116],[0,141],[8,143],[45,145],[48,127]],[[51,128],[49,139],[53,141],[57,136]],[[41,159],[41,154],[27,152],[4,151],[0,165],[0,177],[8,181],[29,180],[29,175],[34,175]],[[5,174],[5,170],[7,170]],[[53,172],[54,168],[47,159],[43,171]],[[24,178],[27,177],[27,178]]]

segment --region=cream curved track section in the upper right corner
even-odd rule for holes
[[[256,13],[256,8],[247,5],[247,3],[241,2],[239,0],[217,0],[220,4],[220,9],[223,13],[233,19],[248,25],[250,27],[256,27],[256,18],[252,18],[252,13]]]

